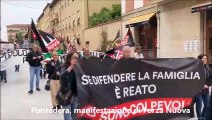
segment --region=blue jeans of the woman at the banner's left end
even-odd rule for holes
[[[63,109],[68,109],[69,111],[71,111],[71,115],[70,113],[64,112],[64,120],[77,120],[76,114],[74,113],[74,109],[77,109],[77,104],[78,104],[78,97],[73,96],[71,104],[68,106],[63,106]]]

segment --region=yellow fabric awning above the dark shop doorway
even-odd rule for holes
[[[154,15],[155,12],[131,18],[128,22],[128,25],[148,21]]]

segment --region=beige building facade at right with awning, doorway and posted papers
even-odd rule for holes
[[[130,28],[146,58],[205,53],[212,63],[211,16],[211,0],[122,0],[122,35]]]

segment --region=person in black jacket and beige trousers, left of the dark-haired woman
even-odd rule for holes
[[[46,64],[46,67],[48,68],[47,72],[49,73],[49,79],[50,79],[51,100],[52,100],[53,109],[60,109],[61,107],[56,100],[56,95],[60,87],[59,68],[60,68],[61,62],[58,59],[57,52],[52,53],[52,58],[53,60],[49,61]]]

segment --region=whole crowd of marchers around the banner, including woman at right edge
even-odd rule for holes
[[[113,51],[114,52],[114,51]],[[110,58],[107,56],[107,52],[102,54],[101,59]],[[61,62],[59,60],[59,55],[57,52],[52,52],[52,59],[46,64],[42,64],[44,59],[43,55],[40,53],[39,46],[33,44],[32,50],[27,54],[26,60],[29,63],[30,69],[30,87],[28,94],[33,94],[34,90],[34,76],[35,76],[35,86],[36,91],[41,91],[39,82],[40,78],[45,78],[46,74],[48,74],[48,79],[50,80],[50,94],[51,94],[51,102],[53,109],[69,109],[71,114],[64,113],[65,120],[75,120],[76,115],[74,114],[74,109],[77,108],[78,105],[78,93],[77,93],[77,85],[76,85],[76,77],[74,72],[74,67],[78,63],[79,59],[91,59],[96,58],[90,54],[88,48],[83,49],[83,55],[79,54],[76,50],[72,49],[71,52],[67,51],[67,55],[65,57],[65,61]],[[140,46],[135,47],[135,52],[132,53],[132,48],[129,46],[124,46],[122,48],[122,58],[135,58],[142,59],[144,55],[142,54],[142,48]],[[201,54],[198,56],[198,59],[202,60],[203,68],[205,72],[206,82],[203,86],[202,91],[197,94],[194,98],[194,102],[196,103],[196,113],[198,120],[212,120],[211,112],[212,112],[212,99],[210,96],[209,87],[212,85],[212,71],[208,66],[207,55]],[[19,71],[19,65],[15,66],[15,71]],[[1,81],[7,82],[6,78],[6,70],[1,69]],[[61,93],[66,93],[67,90],[71,90],[73,97],[70,99],[70,103],[68,105],[61,105],[57,100],[57,93],[61,91]],[[203,103],[203,104],[202,104]],[[203,106],[202,106],[203,105]],[[203,109],[202,109],[203,108]]]

